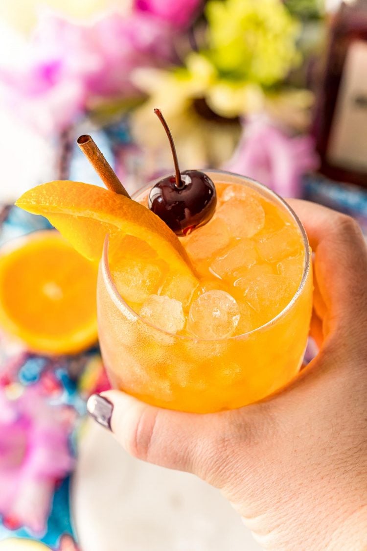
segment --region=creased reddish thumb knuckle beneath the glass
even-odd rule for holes
[[[146,406],[135,412],[129,420],[125,450],[133,457],[149,461],[156,419],[156,410]]]

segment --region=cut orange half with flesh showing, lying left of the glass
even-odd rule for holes
[[[0,256],[0,323],[35,352],[80,352],[97,340],[96,282],[56,231],[25,236]]]

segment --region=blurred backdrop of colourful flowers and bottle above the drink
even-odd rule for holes
[[[3,0],[2,200],[50,179],[98,183],[75,147],[85,132],[129,191],[172,170],[160,107],[183,168],[239,172],[364,225],[365,10],[357,0]]]

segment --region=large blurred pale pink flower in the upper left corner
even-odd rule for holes
[[[173,29],[145,12],[89,26],[45,14],[21,66],[0,67],[5,100],[42,133],[62,131],[95,101],[139,94],[130,73],[172,61]]]

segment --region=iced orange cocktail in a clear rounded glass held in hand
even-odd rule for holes
[[[180,237],[192,274],[169,272],[164,255],[127,235],[106,239],[97,284],[113,385],[198,413],[255,402],[297,374],[313,290],[308,240],[287,204],[244,177],[206,174],[216,212]],[[149,189],[135,199],[145,204]]]

